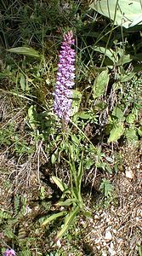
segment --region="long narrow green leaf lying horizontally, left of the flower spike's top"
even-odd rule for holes
[[[29,48],[29,47],[16,47],[16,48],[7,49],[7,51],[20,54],[20,55],[27,55],[31,57],[41,58],[41,55],[39,55],[36,49]]]

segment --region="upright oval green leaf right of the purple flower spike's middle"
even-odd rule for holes
[[[93,85],[93,96],[94,98],[98,98],[99,96],[103,96],[105,93],[105,89],[109,83],[109,73],[108,69],[99,73],[98,77],[94,80]]]

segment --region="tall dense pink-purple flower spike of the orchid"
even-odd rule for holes
[[[54,90],[54,113],[68,123],[71,114],[72,87],[75,84],[75,44],[73,32],[67,32],[61,44],[60,60],[58,64],[57,81]]]

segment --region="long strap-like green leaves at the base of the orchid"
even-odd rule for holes
[[[46,218],[43,225],[49,224],[56,218],[63,217],[65,215],[65,222],[61,230],[56,236],[56,240],[59,240],[62,236],[65,235],[66,231],[71,227],[71,224],[77,218],[77,214],[82,212],[87,217],[91,217],[91,213],[85,210],[83,201],[82,201],[82,193],[81,193],[81,185],[82,185],[82,173],[83,173],[83,152],[80,164],[78,166],[78,171],[76,170],[75,161],[74,161],[74,152],[72,151],[71,145],[69,145],[69,166],[70,166],[70,177],[71,177],[71,185],[68,187],[64,182],[60,180],[58,177],[52,177],[54,183],[60,188],[63,192],[61,200],[56,204],[58,207],[71,207],[70,212],[67,210],[54,213],[50,217]],[[66,199],[67,197],[67,199]]]

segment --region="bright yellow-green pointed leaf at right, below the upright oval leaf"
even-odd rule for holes
[[[108,138],[108,143],[115,143],[124,133],[123,124],[120,123],[116,125],[112,130],[110,137]]]

